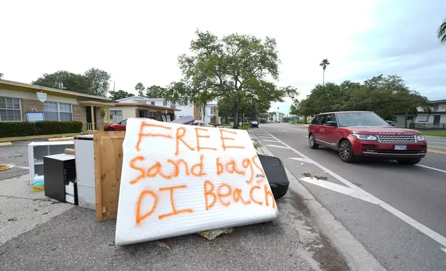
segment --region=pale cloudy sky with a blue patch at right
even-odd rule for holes
[[[181,78],[177,57],[195,30],[277,41],[278,86],[299,99],[325,81],[400,75],[429,100],[446,99],[446,44],[436,30],[444,0],[8,1],[0,0],[0,73],[30,83],[43,73],[111,74],[111,88],[166,86]],[[114,82],[114,83],[113,83]],[[271,110],[287,114],[291,100]]]

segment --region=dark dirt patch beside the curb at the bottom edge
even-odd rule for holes
[[[323,247],[314,248],[313,259],[321,263],[321,268],[327,271],[346,271],[350,270],[346,260],[341,253],[332,246],[332,243],[325,235],[319,232],[319,240]]]

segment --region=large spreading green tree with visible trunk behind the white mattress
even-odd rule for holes
[[[289,94],[268,80],[278,79],[280,61],[274,39],[238,34],[219,39],[211,32],[199,30],[196,35],[190,43],[190,55],[178,58],[184,75],[181,84],[188,89],[178,96],[202,104],[209,99],[230,98],[234,101],[234,118],[238,120],[240,105],[247,97],[272,102],[283,101]],[[174,90],[171,88],[170,92]],[[238,128],[238,122],[234,128]]]

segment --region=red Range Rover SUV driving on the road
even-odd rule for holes
[[[316,115],[308,127],[308,144],[312,149],[319,145],[335,149],[344,162],[363,156],[415,165],[427,151],[420,131],[395,128],[368,111]]]

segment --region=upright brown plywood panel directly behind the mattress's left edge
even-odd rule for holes
[[[96,221],[116,218],[124,137],[124,131],[98,131],[93,134]]]

